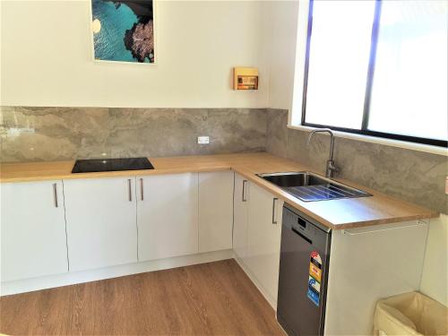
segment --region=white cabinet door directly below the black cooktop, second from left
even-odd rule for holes
[[[137,262],[135,177],[64,181],[70,271]]]

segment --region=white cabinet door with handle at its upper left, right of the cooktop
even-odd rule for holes
[[[137,177],[139,260],[198,252],[198,173]]]

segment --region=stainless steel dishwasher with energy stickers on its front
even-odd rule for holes
[[[332,231],[283,206],[277,320],[290,336],[323,335]]]

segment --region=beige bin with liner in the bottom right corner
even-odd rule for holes
[[[383,298],[376,304],[374,334],[447,335],[448,308],[419,292]]]

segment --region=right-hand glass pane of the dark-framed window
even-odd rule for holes
[[[446,140],[445,1],[383,1],[368,129]]]

